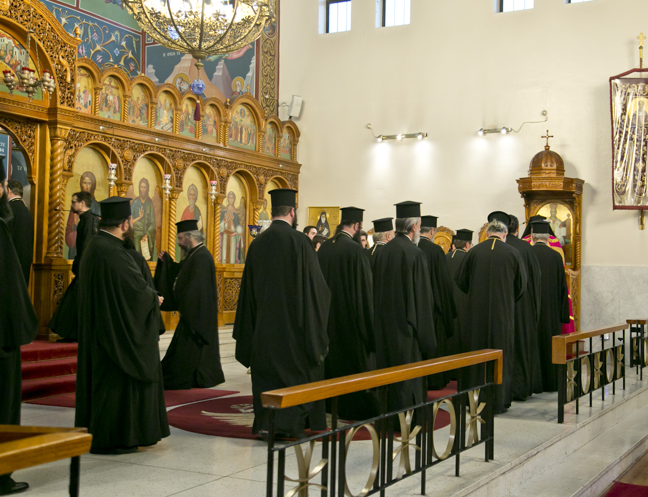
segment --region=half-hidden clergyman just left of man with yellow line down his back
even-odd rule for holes
[[[452,237],[452,244],[455,248],[446,253],[446,261],[448,262],[448,273],[450,273],[450,279],[452,279],[452,294],[457,317],[452,322],[454,334],[446,342],[448,354],[450,355],[468,352],[468,341],[465,331],[465,319],[468,316],[469,309],[468,295],[459,290],[455,278],[463,259],[465,259],[468,251],[472,247],[472,231],[470,229],[457,229],[457,234]]]

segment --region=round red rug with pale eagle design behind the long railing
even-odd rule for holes
[[[172,409],[168,411],[167,416],[168,424],[187,432],[251,440],[259,438],[252,434],[254,411],[251,395],[196,402]],[[439,410],[434,429],[438,430],[448,424],[450,415],[444,410]],[[358,430],[354,437],[354,440],[368,439],[367,430]]]

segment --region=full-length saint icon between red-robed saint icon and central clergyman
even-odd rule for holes
[[[227,181],[226,191],[227,196],[220,206],[220,262],[243,264],[248,234],[248,191],[244,181],[236,173]]]

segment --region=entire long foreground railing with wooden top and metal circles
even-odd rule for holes
[[[480,402],[478,389],[461,390],[458,382],[457,393],[446,397],[428,400],[424,391],[424,402],[410,406],[404,410],[387,412],[387,387],[415,378],[424,378],[435,373],[453,371],[462,367],[483,365],[485,382],[481,385],[485,402]],[[353,496],[345,477],[346,454],[357,430],[366,429],[371,435],[373,444],[373,463],[368,472],[369,478],[364,489],[358,496],[368,492],[384,494],[384,489],[401,478],[421,473],[421,493],[425,494],[425,471],[444,459],[455,456],[455,473],[459,476],[459,454],[481,443],[485,444],[485,461],[493,458],[494,430],[493,404],[494,385],[502,383],[502,351],[485,349],[453,356],[404,364],[358,375],[342,376],[319,382],[297,385],[261,394],[264,407],[271,408],[270,430],[268,433],[268,474],[266,480],[266,496],[272,497],[275,452],[277,457],[277,492],[278,497],[284,496],[284,482],[294,481],[297,486],[286,495],[307,497],[311,486],[321,489],[322,495]],[[423,382],[425,384],[425,382]],[[479,388],[479,387],[478,387]],[[378,389],[378,403],[381,414],[364,421],[352,422],[338,428],[337,397],[348,393]],[[318,400],[331,399],[332,425],[327,432],[314,433],[299,441],[288,442],[275,446],[274,411],[284,408],[307,404]],[[482,400],[483,400],[482,399]],[[434,446],[434,422],[441,404],[445,404],[450,417],[450,437],[441,455],[437,454]],[[468,412],[466,412],[468,411]],[[467,414],[469,421],[467,422]],[[400,435],[394,433],[394,422],[400,423]],[[417,425],[417,426],[414,426]],[[478,427],[480,427],[478,430]],[[469,434],[467,435],[467,431]],[[321,440],[322,459],[310,466],[316,440]],[[304,452],[302,444],[307,443]],[[394,445],[397,447],[395,448]],[[299,476],[288,478],[284,474],[286,464],[286,449],[294,447],[297,454]],[[415,452],[413,468],[410,461],[410,450]],[[441,452],[441,451],[439,451]],[[399,457],[397,476],[393,478],[393,461]],[[433,459],[436,458],[436,460]],[[321,476],[321,484],[312,480]],[[329,493],[330,492],[330,493]]]

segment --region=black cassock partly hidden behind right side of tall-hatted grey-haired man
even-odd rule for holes
[[[448,340],[454,334],[454,318],[457,310],[454,306],[454,295],[448,262],[443,249],[432,240],[421,237],[419,248],[423,251],[430,271],[432,300],[434,301],[434,330],[437,334],[437,350],[434,357],[423,354],[423,359],[443,357],[450,354]],[[428,376],[428,389],[440,390],[450,381],[450,371]]]

